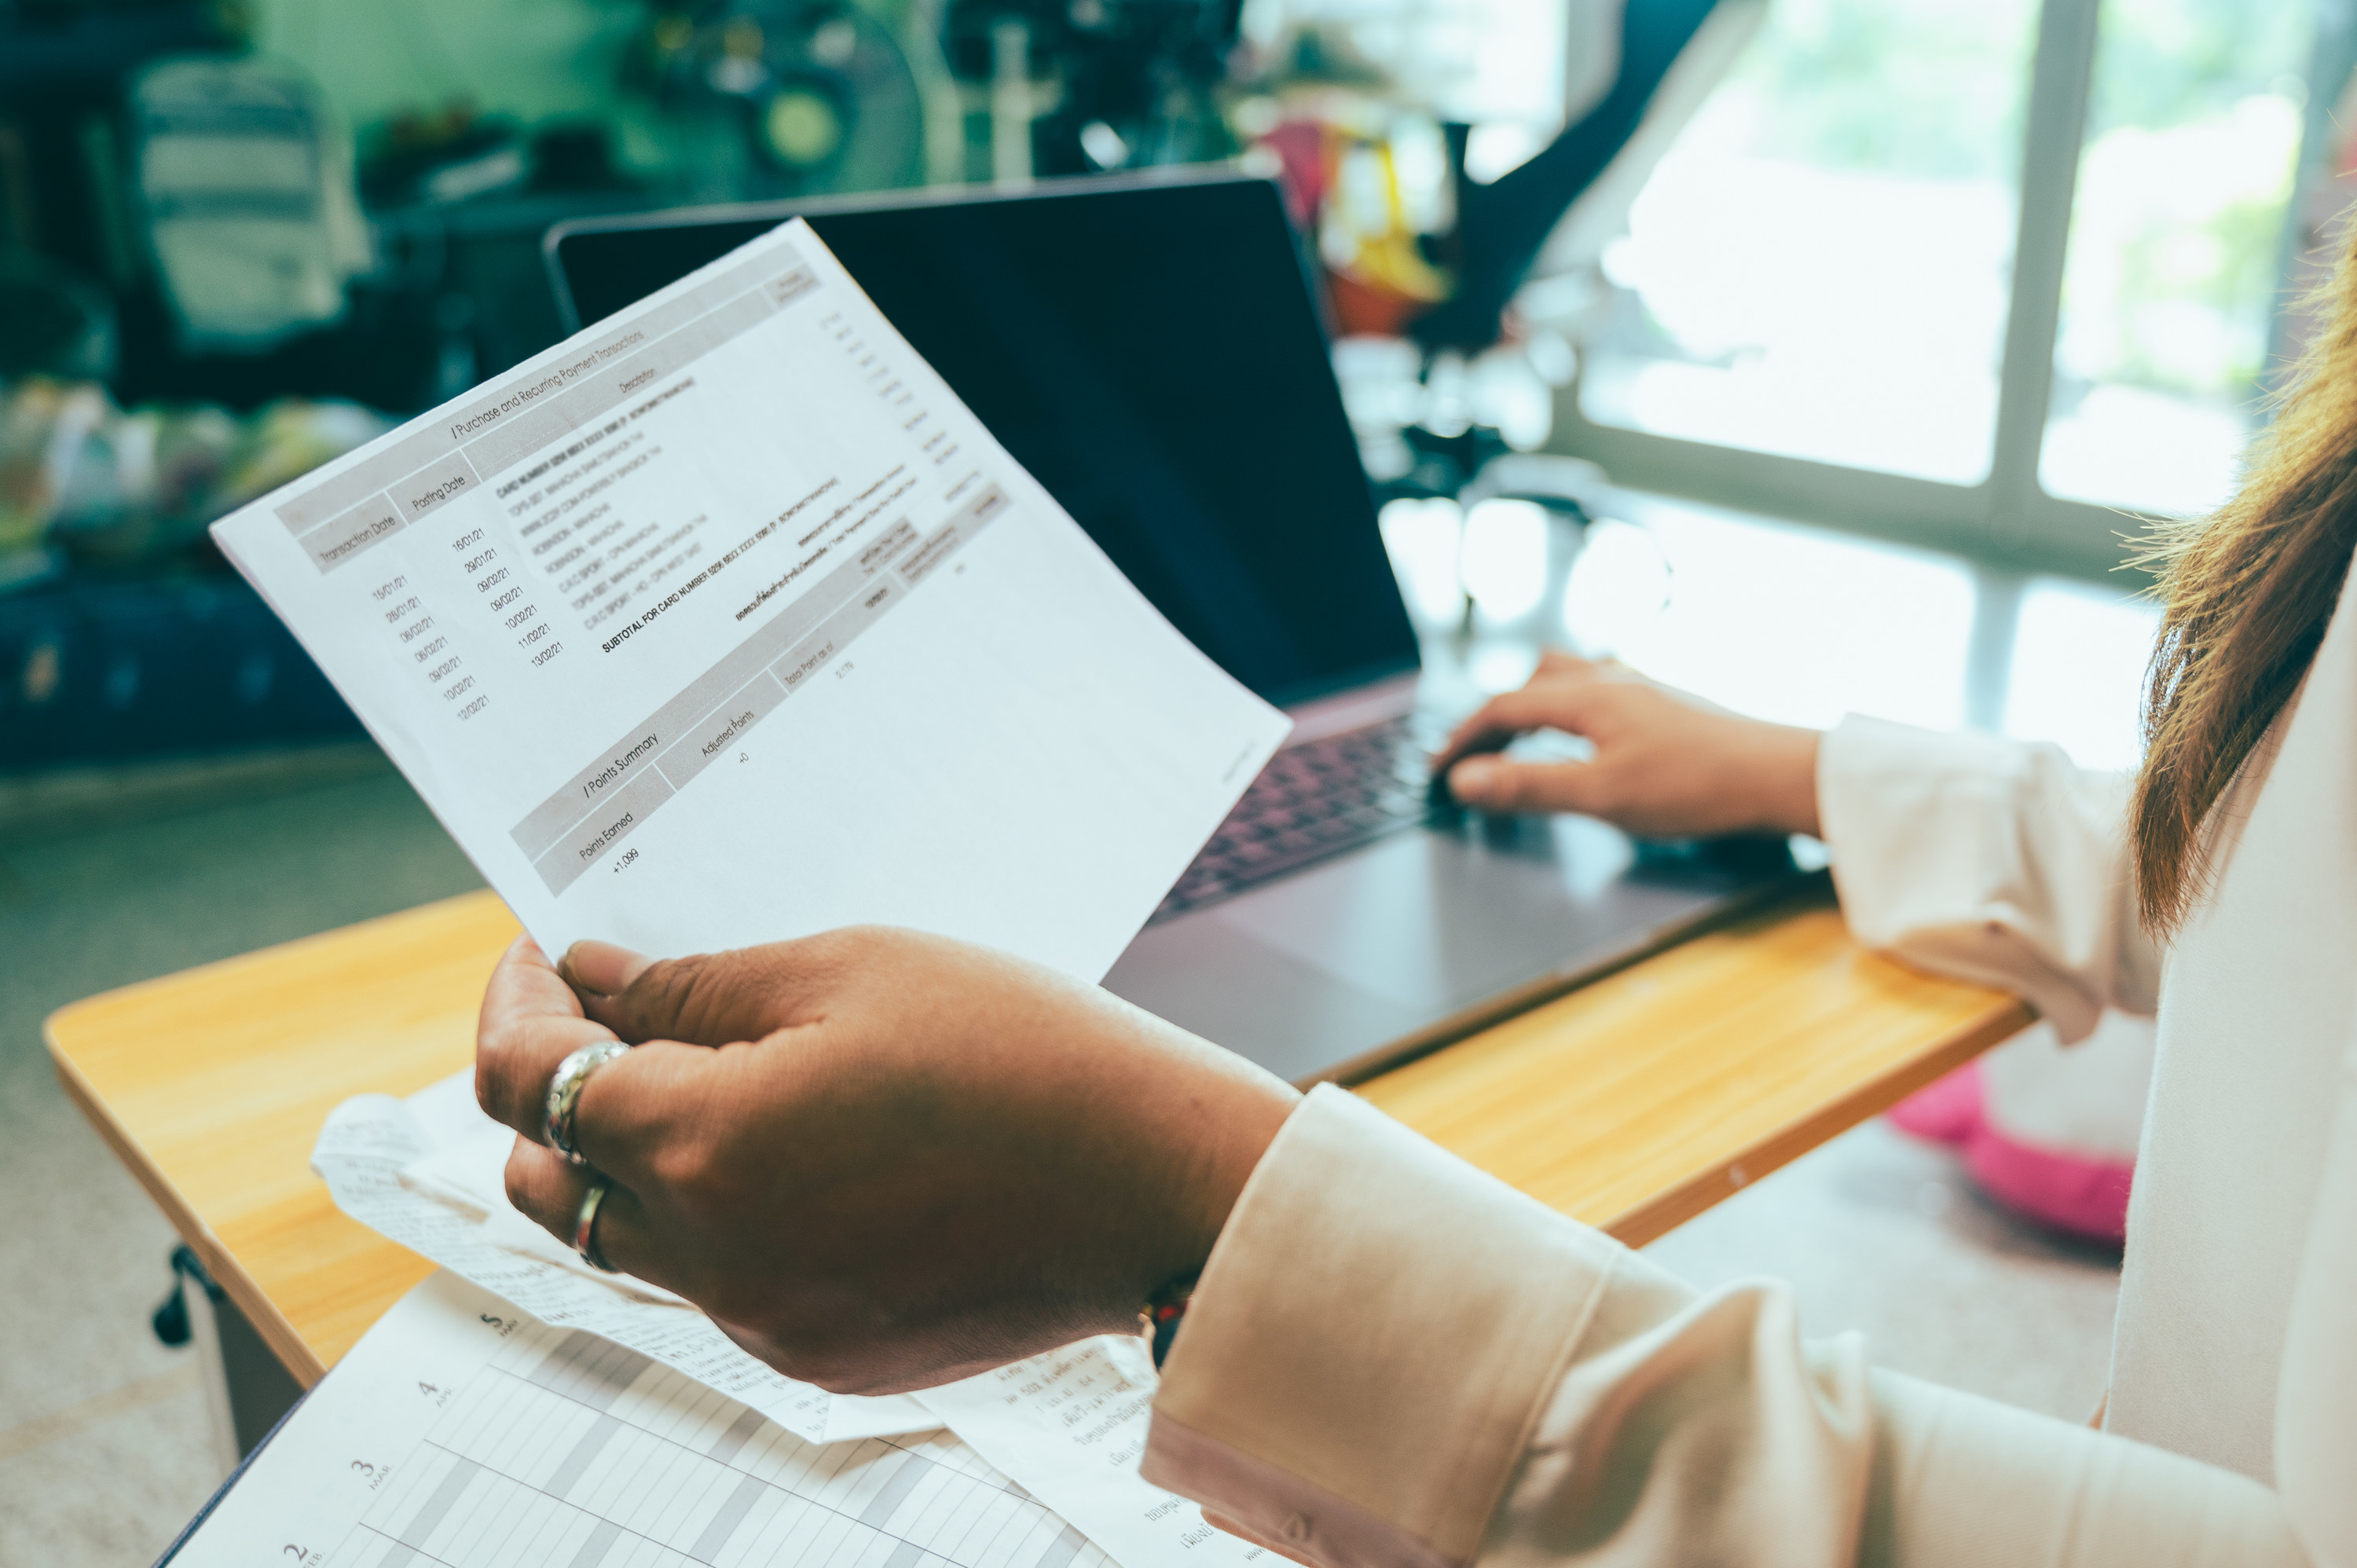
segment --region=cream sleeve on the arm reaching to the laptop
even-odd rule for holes
[[[2105,1007],[2150,1014],[2161,957],[2135,917],[2128,778],[2053,745],[1843,719],[1817,752],[1817,816],[1850,931],[2027,997],[2084,1040]]]

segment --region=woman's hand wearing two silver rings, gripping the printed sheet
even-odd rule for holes
[[[556,1063],[636,1049],[542,1144]],[[924,1389],[1084,1335],[1209,1257],[1299,1094],[1094,986],[882,927],[648,962],[528,938],[490,979],[483,1108],[519,1210],[702,1306],[790,1377]]]

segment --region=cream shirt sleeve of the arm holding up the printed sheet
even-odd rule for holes
[[[1146,1476],[1320,1568],[2336,1561],[2246,1476],[1871,1372],[1334,1087],[1211,1252]]]

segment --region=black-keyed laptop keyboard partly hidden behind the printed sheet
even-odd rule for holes
[[[1155,924],[1426,816],[1440,731],[1400,714],[1277,752],[1155,910]]]

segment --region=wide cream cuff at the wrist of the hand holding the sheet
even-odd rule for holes
[[[1468,1563],[1629,1257],[1322,1085],[1211,1250],[1146,1478],[1327,1568]]]

